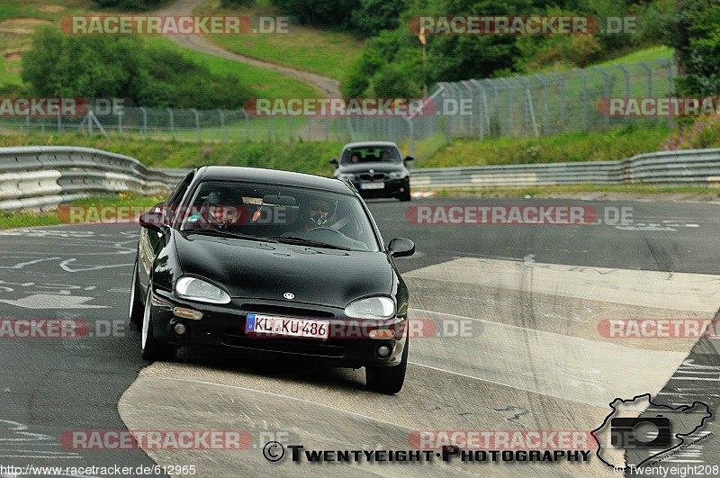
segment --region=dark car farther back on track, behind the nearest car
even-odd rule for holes
[[[402,158],[391,141],[348,143],[339,160],[330,159],[334,176],[352,183],[364,198],[396,197],[410,201],[410,156]]]

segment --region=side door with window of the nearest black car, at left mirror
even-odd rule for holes
[[[177,206],[187,193],[187,188],[193,181],[195,172],[191,172],[185,176],[175,187],[175,190],[167,198],[164,203],[155,204],[151,211],[162,210],[165,216],[165,223],[171,224],[174,214],[177,212]],[[140,239],[138,245],[138,280],[143,294],[148,293],[149,278],[152,273],[153,265],[157,254],[165,247],[166,235],[155,230],[140,228]]]

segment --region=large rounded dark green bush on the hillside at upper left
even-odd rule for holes
[[[50,28],[33,37],[22,77],[34,95],[125,98],[139,106],[238,108],[250,96],[237,77],[214,75],[173,48]]]

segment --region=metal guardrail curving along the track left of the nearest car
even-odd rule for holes
[[[101,149],[0,148],[0,211],[47,210],[98,193],[164,195],[187,173]]]

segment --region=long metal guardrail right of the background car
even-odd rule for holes
[[[582,184],[720,187],[720,149],[659,151],[618,161],[419,168],[410,175],[414,190]]]

